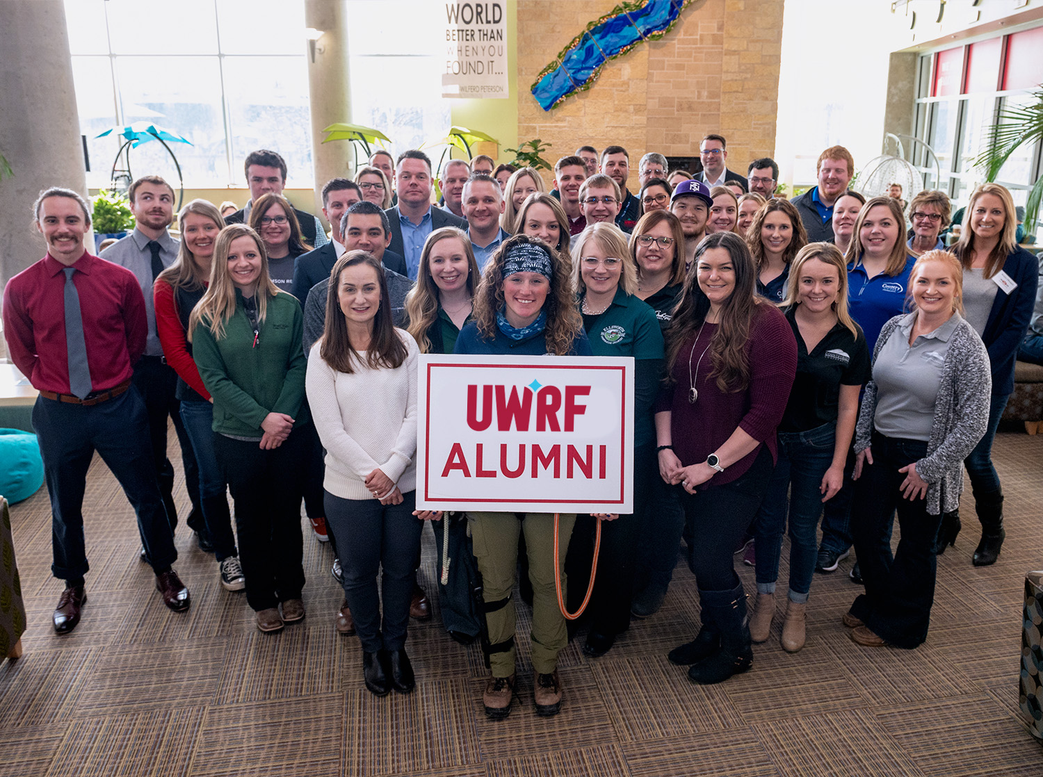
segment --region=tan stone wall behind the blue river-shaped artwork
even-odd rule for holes
[[[622,145],[634,168],[647,151],[697,155],[708,132],[728,139],[736,171],[774,152],[782,0],[697,0],[665,38],[612,59],[589,90],[544,112],[529,93],[537,73],[615,5],[518,0],[519,140],[549,142],[552,163],[579,145]]]

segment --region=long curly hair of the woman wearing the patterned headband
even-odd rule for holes
[[[504,257],[516,245],[538,245],[551,257],[551,291],[543,302],[547,311],[547,351],[565,356],[583,329],[583,317],[576,306],[576,287],[573,285],[572,267],[559,251],[539,238],[515,235],[505,240],[489,259],[482,273],[482,283],[475,292],[474,315],[478,332],[485,340],[496,336],[496,312],[504,308]]]

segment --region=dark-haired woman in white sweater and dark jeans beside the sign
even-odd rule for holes
[[[381,263],[366,251],[344,253],[331,273],[325,334],[308,357],[307,388],[326,450],[326,519],[344,538],[344,597],[366,687],[377,696],[408,694],[415,682],[405,646],[422,528],[413,515],[418,356],[416,341],[392,323]]]

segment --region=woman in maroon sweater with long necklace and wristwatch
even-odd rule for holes
[[[775,466],[775,431],[797,372],[797,341],[756,293],[750,249],[714,233],[696,251],[666,330],[668,385],[656,407],[659,472],[682,489],[688,566],[702,628],[670,660],[693,682],[723,682],[750,667],[750,628],[734,550]]]

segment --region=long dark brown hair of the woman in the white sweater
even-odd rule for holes
[[[377,283],[381,287],[381,302],[373,316],[373,332],[366,348],[366,359],[362,358],[351,346],[347,336],[347,321],[340,309],[340,273],[348,267],[366,265],[377,274]],[[388,295],[387,278],[384,267],[369,251],[347,251],[333,266],[330,272],[330,286],[326,291],[325,331],[319,341],[319,356],[338,372],[355,372],[355,364],[365,364],[369,369],[395,369],[406,361],[409,351],[406,343],[395,332],[394,320],[391,318],[391,297]]]

